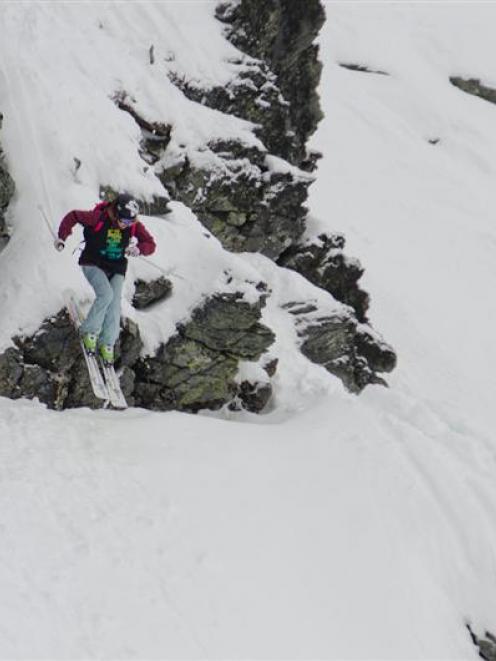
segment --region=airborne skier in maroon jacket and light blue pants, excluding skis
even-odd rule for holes
[[[138,202],[121,193],[113,202],[100,202],[92,211],[69,211],[54,242],[58,251],[63,250],[74,225],[83,225],[85,247],[79,264],[96,298],[80,333],[88,354],[98,351],[106,365],[114,362],[114,344],[119,337],[127,258],[155,251],[155,241],[138,220],[138,213]]]

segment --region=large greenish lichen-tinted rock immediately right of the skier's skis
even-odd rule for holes
[[[136,402],[158,410],[218,409],[237,392],[240,360],[257,360],[274,341],[260,322],[262,295],[248,304],[241,294],[217,294],[156,356],[136,366]]]

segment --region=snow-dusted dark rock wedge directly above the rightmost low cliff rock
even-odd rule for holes
[[[359,321],[367,320],[369,296],[357,282],[364,269],[357,259],[343,253],[342,234],[321,234],[304,244],[291,246],[281,255],[278,264],[301,273],[317,287],[330,292],[334,298],[350,305]]]

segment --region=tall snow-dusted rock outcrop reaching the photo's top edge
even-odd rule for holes
[[[216,141],[196,160],[177,148],[164,150],[155,170],[171,196],[191,207],[225,248],[276,259],[305,226],[312,178],[303,170],[313,170],[317,160],[305,145],[322,117],[313,41],[324,11],[319,0],[242,0],[219,4],[216,15],[226,37],[250,57],[232,63],[236,73],[222,87],[206,89],[174,72],[170,78],[192,101],[253,122],[267,152]],[[274,168],[267,153],[286,165],[280,161]]]

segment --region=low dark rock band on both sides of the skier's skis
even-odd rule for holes
[[[125,320],[116,346],[116,369],[128,403],[194,412],[236,400],[260,410],[270,398],[270,384],[264,383],[261,395],[258,382],[238,383],[236,375],[240,361],[257,361],[274,341],[272,331],[259,321],[264,305],[262,287],[256,303],[247,303],[242,294],[217,294],[146,358],[141,356],[137,325]],[[45,321],[34,336],[16,338],[15,347],[0,355],[0,396],[37,397],[54,409],[102,406],[92,394],[65,311]]]

